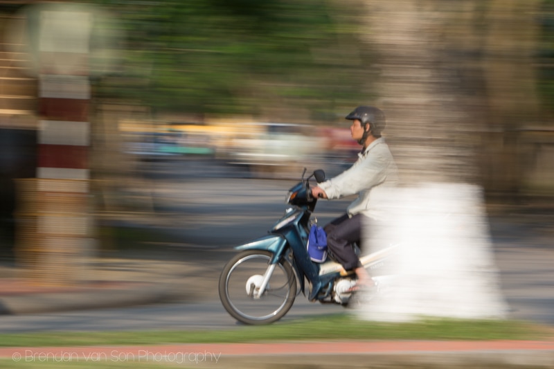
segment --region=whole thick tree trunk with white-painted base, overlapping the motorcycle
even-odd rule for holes
[[[388,293],[357,309],[364,319],[506,316],[483,193],[474,184],[483,102],[461,87],[465,65],[449,52],[460,45],[445,41],[449,30],[465,31],[459,17],[467,13],[446,8],[377,0],[363,12],[366,55],[379,71],[371,79],[379,99],[367,103],[386,114],[384,134],[402,180],[387,204],[391,217],[371,227],[364,253],[403,245],[388,270],[378,271],[396,276]]]

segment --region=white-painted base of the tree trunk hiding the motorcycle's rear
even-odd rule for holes
[[[364,240],[375,251],[400,245],[375,271],[393,278],[359,307],[359,316],[374,321],[504,318],[507,307],[482,204],[480,188],[463,183],[420,183],[393,192],[391,217],[373,225]]]

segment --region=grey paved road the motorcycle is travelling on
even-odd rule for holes
[[[219,167],[198,174],[194,168],[186,180],[153,182],[149,193],[163,210],[154,226],[164,226],[168,232],[164,240],[148,241],[158,251],[142,253],[146,261],[136,256],[145,269],[182,288],[181,297],[168,304],[127,309],[3,316],[1,331],[237,327],[219,303],[217,278],[232,246],[265,234],[283,213],[285,193],[295,181],[222,177]],[[346,204],[321,201],[317,208],[320,222],[341,213]],[[491,223],[502,289],[512,317],[554,325],[554,248],[550,237],[539,237],[544,233],[536,231],[536,224],[510,219],[492,219]],[[133,268],[132,261],[125,259],[114,261],[112,267],[122,272]],[[140,278],[139,274],[131,276]],[[284,320],[334,312],[343,312],[343,308],[307,303],[301,295]]]

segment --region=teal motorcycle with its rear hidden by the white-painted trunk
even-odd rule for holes
[[[305,172],[301,181],[289,190],[285,202],[290,207],[269,234],[235,247],[240,252],[221,273],[220,300],[226,311],[242,323],[260,325],[278,321],[300,292],[310,302],[343,306],[350,303],[355,273],[345,271],[329,257],[324,262],[314,262],[307,251],[317,203],[310,190],[310,179],[321,183],[325,172],[316,170],[304,178]],[[395,246],[389,246],[361,257],[360,261],[367,269],[373,269],[382,265],[394,249]]]

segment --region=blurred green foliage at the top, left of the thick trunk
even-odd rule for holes
[[[97,81],[99,97],[223,114],[257,114],[268,103],[325,114],[368,100],[361,87],[369,56],[360,55],[355,9],[339,2],[93,3],[114,15],[109,27],[125,33],[123,60]]]

